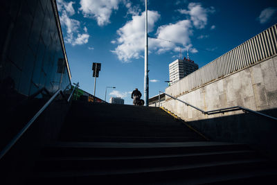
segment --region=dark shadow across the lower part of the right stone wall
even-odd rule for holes
[[[261,113],[276,117],[277,109]],[[211,141],[247,143],[271,158],[277,156],[277,121],[269,118],[246,113],[187,123]]]

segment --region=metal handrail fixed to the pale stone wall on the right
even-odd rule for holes
[[[163,93],[163,94],[166,94],[165,92],[163,91],[159,91],[159,107],[161,107],[161,98],[160,98],[160,94]],[[247,109],[245,107],[242,107],[242,106],[235,106],[235,107],[227,107],[227,108],[223,108],[223,109],[215,109],[215,110],[210,110],[210,111],[204,111],[203,109],[199,109],[198,107],[195,107],[193,105],[190,105],[189,103],[186,103],[185,101],[183,100],[180,100],[178,98],[175,98],[173,96],[170,96],[169,94],[166,94],[166,96],[169,96],[170,98],[173,98],[175,100],[179,100],[181,103],[184,103],[185,105],[187,106],[190,106],[190,107],[193,107],[194,109],[197,109],[199,110],[200,112],[202,112],[203,114],[208,114],[208,115],[211,115],[211,114],[219,114],[219,113],[224,113],[224,112],[231,112],[231,111],[237,111],[237,110],[242,110],[243,112],[251,112],[253,114],[258,114],[260,116],[265,116],[267,118],[271,118],[273,119],[274,121],[277,121],[277,118],[273,117],[273,116],[269,116],[267,114],[262,114],[260,112],[256,112],[256,111],[253,111],[252,109]]]

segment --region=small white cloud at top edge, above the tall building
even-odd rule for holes
[[[196,28],[202,29],[208,22],[208,13],[215,12],[215,8],[203,8],[201,3],[189,3],[188,10],[179,9],[177,10],[181,14],[190,15],[191,21]]]

